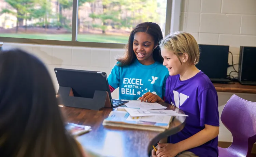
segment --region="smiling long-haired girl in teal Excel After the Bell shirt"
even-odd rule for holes
[[[162,101],[169,72],[162,65],[159,41],[160,27],[152,22],[141,23],[131,31],[125,55],[108,76],[111,92],[119,87],[119,99],[147,102]]]

